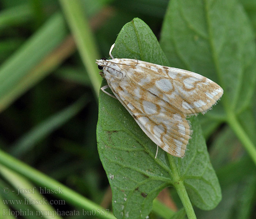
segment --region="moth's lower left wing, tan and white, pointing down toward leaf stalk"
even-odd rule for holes
[[[155,144],[176,157],[184,155],[191,135],[184,114],[173,111],[169,104],[150,92],[138,95],[136,89],[140,88],[128,78],[109,83],[109,87]]]

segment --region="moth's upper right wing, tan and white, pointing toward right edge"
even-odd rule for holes
[[[218,84],[200,74],[143,61],[132,70],[130,67],[127,76],[138,87],[188,115],[206,112],[223,94]]]

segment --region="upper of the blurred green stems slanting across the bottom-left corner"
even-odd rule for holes
[[[108,212],[100,205],[83,197],[79,193],[59,183],[53,178],[50,178],[49,176],[39,172],[31,166],[15,159],[14,157],[10,156],[2,150],[0,150],[0,164],[6,166],[7,168],[10,168],[11,170],[14,170],[17,173],[20,173],[29,180],[33,181],[35,184],[40,185],[40,187],[53,189],[52,191],[54,191],[54,189],[60,189],[61,192],[52,193],[52,195],[60,198],[61,200],[65,200],[71,205],[83,208],[86,211],[99,210],[100,212],[104,212],[104,214],[97,215],[98,218],[116,219],[111,212]]]

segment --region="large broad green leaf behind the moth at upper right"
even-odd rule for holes
[[[234,0],[173,0],[165,16],[161,46],[174,67],[217,82],[221,101],[238,112],[255,87],[255,42],[246,14]]]

